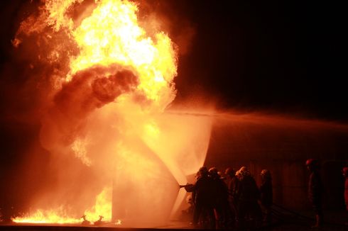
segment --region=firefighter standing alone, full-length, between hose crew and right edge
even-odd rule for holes
[[[322,181],[319,174],[319,163],[317,159],[308,159],[305,162],[307,169],[310,171],[308,182],[308,199],[312,203],[315,212],[315,225],[313,228],[321,227],[323,222],[322,215]]]

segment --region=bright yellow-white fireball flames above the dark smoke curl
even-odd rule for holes
[[[138,90],[166,106],[173,94],[166,96],[163,91],[173,91],[177,69],[173,43],[163,32],[156,34],[155,41],[148,37],[138,26],[137,11],[136,4],[129,1],[100,1],[92,15],[72,31],[80,55],[72,58],[70,74],[96,64],[133,67],[140,79]]]

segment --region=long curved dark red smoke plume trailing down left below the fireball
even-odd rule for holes
[[[106,75],[107,72],[115,73]],[[89,113],[115,101],[121,94],[134,91],[137,85],[138,77],[121,67],[93,67],[78,72],[62,85],[43,118],[44,147],[51,150],[70,145],[83,130]]]

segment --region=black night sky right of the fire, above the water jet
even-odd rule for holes
[[[217,96],[222,108],[347,120],[342,6],[188,2],[197,34],[180,59],[179,97],[195,86]]]

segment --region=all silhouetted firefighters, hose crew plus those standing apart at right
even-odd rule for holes
[[[316,159],[308,159],[306,166],[310,171],[308,198],[315,213],[315,225],[321,227],[322,182]],[[345,201],[348,211],[348,168],[342,171],[346,178]],[[246,167],[235,171],[227,168],[224,173],[216,167],[201,167],[195,175],[195,184],[181,186],[191,195],[187,197],[190,207],[183,210],[191,215],[191,225],[207,229],[249,230],[271,225],[271,206],[273,188],[271,172],[261,171],[261,185],[257,186]]]

